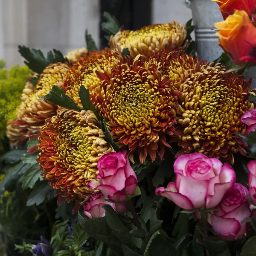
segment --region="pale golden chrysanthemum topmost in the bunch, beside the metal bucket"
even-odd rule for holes
[[[133,57],[141,54],[148,58],[155,51],[161,49],[172,51],[180,48],[186,35],[184,25],[173,21],[172,23],[145,26],[135,31],[121,29],[111,37],[110,46],[120,52],[124,48],[128,48]]]

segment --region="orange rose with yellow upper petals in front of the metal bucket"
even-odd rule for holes
[[[215,23],[215,27],[219,29],[216,34],[221,47],[232,55],[236,64],[255,62],[255,58],[247,56],[256,45],[256,27],[245,11],[235,11],[226,20]]]

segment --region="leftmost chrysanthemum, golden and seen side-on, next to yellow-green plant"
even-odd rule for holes
[[[27,140],[28,131],[33,131],[44,125],[45,119],[55,115],[57,106],[47,100],[39,100],[49,93],[53,85],[61,82],[70,64],[50,64],[38,79],[38,84],[28,98],[16,109],[17,118],[7,126],[7,137],[13,145],[19,145]]]

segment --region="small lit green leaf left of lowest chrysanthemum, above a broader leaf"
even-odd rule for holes
[[[27,169],[21,178],[22,188],[30,188],[35,185],[35,182],[41,177],[41,171],[39,170],[39,163],[32,164],[29,169]]]

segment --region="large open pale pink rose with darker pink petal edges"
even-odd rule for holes
[[[156,195],[169,198],[183,209],[215,207],[236,181],[231,166],[226,163],[222,166],[218,159],[200,153],[178,157],[174,171],[175,183],[157,188]]]

